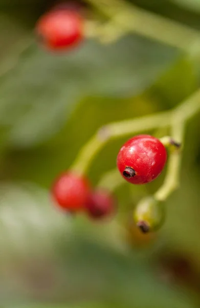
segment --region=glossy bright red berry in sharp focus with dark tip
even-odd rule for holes
[[[124,179],[132,184],[145,184],[157,178],[166,163],[167,152],[159,139],[139,135],[120,149],[117,166]]]

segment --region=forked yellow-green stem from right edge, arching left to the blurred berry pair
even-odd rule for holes
[[[190,120],[200,110],[199,101],[200,89],[172,110],[105,125],[82,147],[71,169],[79,175],[85,174],[97,153],[109,140],[125,137],[141,131],[150,131],[159,127],[171,126],[172,139],[182,143],[182,132],[186,124],[185,122]],[[171,160],[173,160],[173,163],[171,162],[169,165],[172,164],[174,166],[179,164],[179,159],[171,158]],[[176,160],[177,162],[175,163]],[[172,169],[172,167],[170,168]]]

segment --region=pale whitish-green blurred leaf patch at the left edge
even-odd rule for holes
[[[34,185],[1,184],[0,191],[1,258],[29,254],[27,246],[34,253],[42,248],[48,255],[55,229],[59,233],[69,228],[70,217],[59,215],[46,192]]]

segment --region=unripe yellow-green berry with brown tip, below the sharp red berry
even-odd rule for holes
[[[142,199],[134,211],[134,220],[143,233],[157,230],[163,219],[163,203],[153,197]]]

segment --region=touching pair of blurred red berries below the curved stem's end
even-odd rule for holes
[[[93,190],[87,179],[72,171],[65,172],[55,181],[52,193],[62,209],[71,213],[84,210],[94,219],[107,217],[115,209],[114,197],[107,190]]]

